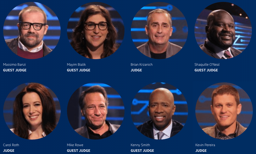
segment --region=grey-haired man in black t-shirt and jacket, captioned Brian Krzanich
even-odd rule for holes
[[[169,42],[172,30],[170,13],[163,9],[149,12],[145,26],[148,42],[137,49],[153,59],[165,59],[177,54],[182,47]]]

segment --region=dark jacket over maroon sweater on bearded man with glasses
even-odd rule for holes
[[[13,38],[13,39],[6,39],[5,43],[7,44],[7,46],[12,50],[12,52],[14,54],[17,55],[18,51],[18,40],[19,37],[17,38]],[[48,48],[45,43],[43,43],[43,56],[46,56],[47,54],[49,54],[52,51],[52,49]]]

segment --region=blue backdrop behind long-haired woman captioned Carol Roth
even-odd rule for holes
[[[3,105],[3,117],[6,122],[6,125],[9,127],[9,129],[13,128],[13,103],[15,100],[15,97],[19,94],[19,92],[27,86],[29,83],[25,83],[22,85],[19,85],[18,87],[14,88],[7,98],[5,99],[4,105]],[[53,101],[55,102],[55,108],[56,108],[56,115],[57,115],[57,124],[60,118],[60,104],[57,96],[54,94],[54,92],[49,89],[47,86],[45,86],[50,94],[53,97]]]

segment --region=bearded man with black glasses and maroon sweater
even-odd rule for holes
[[[41,8],[29,6],[22,9],[17,26],[19,37],[5,40],[14,54],[26,59],[38,59],[52,51],[42,40],[48,25],[46,13]]]

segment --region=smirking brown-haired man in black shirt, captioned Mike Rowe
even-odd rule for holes
[[[113,125],[106,121],[108,104],[107,92],[103,87],[95,85],[83,91],[79,97],[79,105],[86,124],[75,131],[79,135],[93,140],[103,139],[114,134],[120,125]]]

